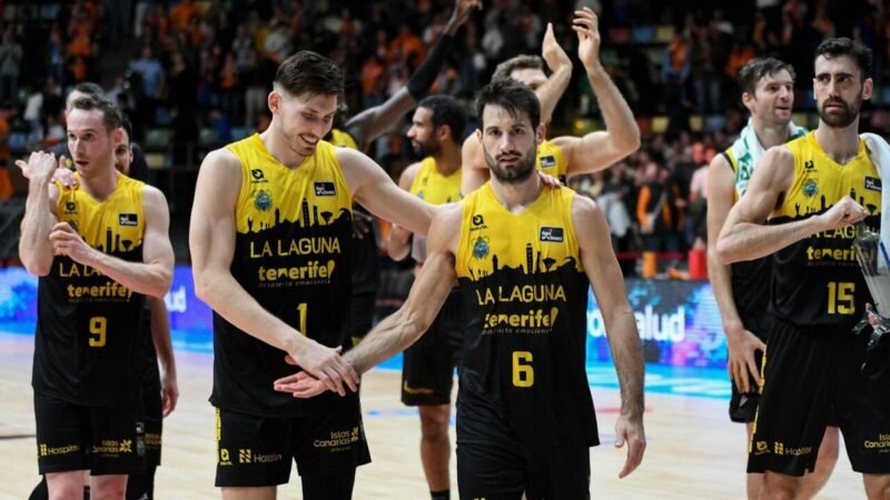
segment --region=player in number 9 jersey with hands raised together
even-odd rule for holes
[[[38,466],[50,498],[125,498],[140,472],[142,363],[132,324],[142,294],[172,277],[167,201],[115,169],[121,116],[101,98],[73,101],[68,146],[77,186],[52,184],[55,156],[20,163],[29,181],[19,254],[40,277],[34,346]],[[137,329],[138,330],[138,329]]]

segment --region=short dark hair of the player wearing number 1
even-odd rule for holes
[[[330,59],[309,50],[285,59],[275,72],[275,84],[291,96],[339,94],[343,92],[343,72]]]

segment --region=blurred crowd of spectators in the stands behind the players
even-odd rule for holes
[[[882,86],[890,48],[884,3],[486,0],[458,31],[432,92],[469,106],[500,61],[541,52],[547,22],[573,53],[572,12],[592,7],[601,18],[602,60],[644,140],[630,158],[571,183],[607,207],[620,252],[702,248],[704,167],[744,126],[734,78],[749,59],[774,56],[794,66],[801,113],[795,118],[807,126],[815,118],[810,91],[815,46],[829,36],[862,40],[874,50],[878,89],[862,123],[890,129],[890,91]],[[406,84],[452,6],[452,0],[0,2],[0,163],[65,140],[67,89],[96,81],[128,113],[137,142],[165,132],[162,167],[196,166],[206,150],[265,128],[275,69],[299,49],[337,61],[348,112],[358,112]],[[554,134],[602,127],[586,78],[574,77],[551,123]],[[404,132],[383,136],[368,151],[394,176],[412,160]],[[12,194],[0,179],[0,199]]]

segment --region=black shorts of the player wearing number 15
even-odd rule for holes
[[[862,377],[866,341],[846,329],[817,331],[777,321],[767,346],[749,472],[813,471],[825,426],[837,412],[853,470],[890,473],[890,373]]]

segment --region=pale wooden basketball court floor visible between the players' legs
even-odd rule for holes
[[[37,483],[37,447],[31,392],[32,338],[0,333],[0,499],[27,499]],[[214,499],[215,429],[210,393],[212,358],[176,352],[180,399],[165,421],[164,463],[156,478],[158,499]],[[365,428],[374,462],[359,469],[354,498],[429,498],[419,463],[419,421],[398,400],[399,374],[374,370],[363,383]],[[726,417],[726,401],[678,394],[646,394],[649,447],[640,469],[619,480],[624,450],[612,447],[619,394],[594,388],[603,446],[591,451],[592,493],[602,499],[743,499],[745,443],[742,426]],[[454,428],[452,427],[452,432]],[[454,482],[454,459],[452,481]],[[279,488],[281,499],[299,499],[296,471]],[[453,483],[453,498],[457,486]],[[818,497],[864,498],[846,453]]]

